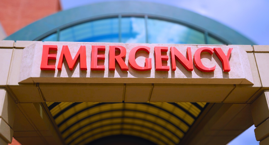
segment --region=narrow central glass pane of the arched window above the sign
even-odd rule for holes
[[[139,17],[121,18],[121,42],[146,43],[145,19]]]

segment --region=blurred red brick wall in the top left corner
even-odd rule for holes
[[[61,10],[60,0],[0,0],[0,23],[7,35]]]

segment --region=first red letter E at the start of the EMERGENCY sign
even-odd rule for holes
[[[48,65],[48,60],[56,60],[56,54],[49,54],[49,50],[57,50],[57,48],[57,45],[43,45],[42,60],[40,65],[41,70],[55,71],[55,65]]]

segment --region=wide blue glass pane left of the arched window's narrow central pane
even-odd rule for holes
[[[90,21],[61,30],[60,41],[119,42],[118,18]]]

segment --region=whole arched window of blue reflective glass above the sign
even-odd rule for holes
[[[144,17],[115,17],[84,22],[58,30],[58,33],[41,41],[224,44],[190,27]]]

